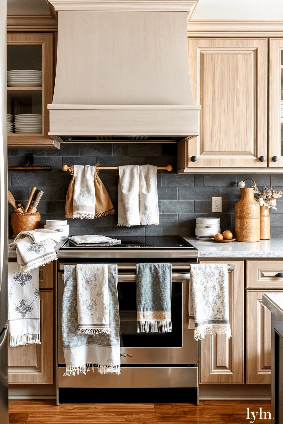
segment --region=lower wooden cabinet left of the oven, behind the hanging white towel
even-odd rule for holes
[[[41,344],[8,348],[9,383],[53,383],[53,262],[39,268]]]

